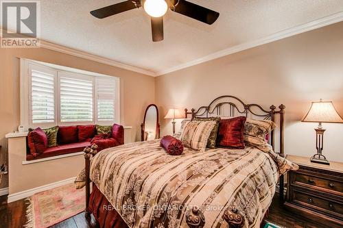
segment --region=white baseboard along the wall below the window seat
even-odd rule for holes
[[[8,203],[11,203],[13,201],[17,201],[19,199],[24,199],[26,197],[31,197],[33,194],[37,193],[37,192],[43,192],[45,190],[50,190],[52,188],[57,188],[59,186],[64,186],[68,183],[73,183],[75,180],[75,177],[71,177],[69,179],[64,179],[62,181],[57,181],[54,183],[49,183],[45,186],[40,186],[37,188],[31,188],[29,190],[25,190],[23,192],[16,192],[14,194],[9,194],[8,195]]]

